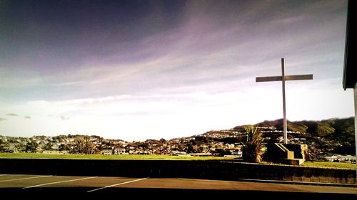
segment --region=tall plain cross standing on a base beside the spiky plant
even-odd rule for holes
[[[283,85],[283,137],[284,137],[284,144],[288,144],[288,135],[286,133],[287,126],[286,126],[285,81],[286,80],[311,80],[311,79],[313,79],[312,74],[285,75],[284,58],[281,58],[281,75],[256,77],[256,82],[282,81],[282,85]]]

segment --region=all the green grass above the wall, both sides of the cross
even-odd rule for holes
[[[181,160],[234,160],[233,157],[189,157],[170,155],[104,155],[104,154],[33,154],[33,153],[0,153],[0,158],[40,158],[40,159],[181,159]],[[263,163],[264,164],[264,163]],[[266,163],[272,164],[272,163]],[[302,166],[357,169],[357,164],[343,162],[306,161]]]

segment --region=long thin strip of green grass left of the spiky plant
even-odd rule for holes
[[[104,155],[104,154],[33,154],[33,153],[0,153],[0,158],[45,158],[45,159],[184,159],[210,160],[233,159],[232,157],[188,157],[170,155]]]

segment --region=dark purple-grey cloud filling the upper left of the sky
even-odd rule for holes
[[[44,56],[51,60],[51,69],[46,67],[47,60],[33,60],[36,70],[41,68],[44,73],[70,69],[86,56],[117,55],[114,50],[118,48],[132,48],[132,44],[124,47],[125,43],[174,28],[185,6],[184,1],[132,0],[30,0],[5,4],[0,8],[4,22],[0,23],[0,48],[6,49],[1,56],[6,60],[12,60],[14,52],[21,54],[16,60]],[[34,49],[46,51],[31,51]],[[21,68],[31,70],[32,66]]]

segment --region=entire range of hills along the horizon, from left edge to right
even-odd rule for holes
[[[59,135],[47,137],[7,137],[0,135],[0,152],[45,152],[69,154],[206,154],[231,155],[241,148],[244,126],[229,130],[211,130],[191,137],[171,140],[126,142],[96,135]],[[264,143],[283,142],[283,120],[264,121],[261,127]],[[308,144],[312,160],[324,160],[331,154],[356,153],[354,118],[321,121],[288,122],[288,142]]]

